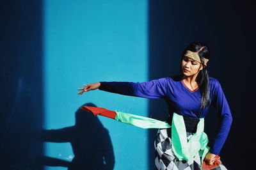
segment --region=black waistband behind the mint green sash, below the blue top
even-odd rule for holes
[[[191,132],[191,133],[195,133],[196,128],[197,128],[197,124],[200,120],[197,119],[197,118],[188,118],[188,117],[185,117],[185,116],[183,116],[183,119],[184,119],[186,131]],[[167,123],[172,125],[172,117],[169,117],[167,119]]]

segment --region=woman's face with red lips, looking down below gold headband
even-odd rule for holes
[[[182,59],[181,62],[181,70],[182,73],[188,77],[192,75],[197,75],[200,70],[203,69],[203,66],[201,63],[198,63],[197,61],[190,59],[186,56]]]

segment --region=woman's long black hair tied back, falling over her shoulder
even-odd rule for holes
[[[210,56],[209,47],[207,47],[207,45],[204,45],[203,43],[200,43],[200,42],[190,43],[188,45],[188,47],[184,50],[184,52],[182,54],[182,59],[184,58],[184,54],[187,50],[191,50],[193,52],[198,52],[200,50],[198,52],[198,55],[199,55],[200,61],[203,65],[205,65],[203,58],[209,59],[209,56]],[[198,75],[196,77],[196,82],[199,86],[200,94],[201,94],[201,106],[200,107],[202,109],[204,109],[205,107],[210,105],[209,75],[207,73],[206,66],[202,70],[200,70],[200,72],[198,73]]]

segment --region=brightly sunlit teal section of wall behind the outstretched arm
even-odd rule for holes
[[[88,102],[147,116],[144,98],[99,90],[77,95],[77,88],[92,82],[148,81],[147,9],[147,1],[44,1],[45,129],[73,126],[75,112]],[[99,120],[111,138],[114,169],[147,169],[147,130]],[[74,157],[70,143],[47,142],[45,155]]]

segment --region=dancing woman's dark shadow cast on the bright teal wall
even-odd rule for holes
[[[91,103],[84,105],[97,107]],[[42,157],[40,162],[44,166],[62,166],[68,167],[68,170],[111,170],[114,168],[115,156],[108,130],[92,113],[77,109],[76,125],[54,130],[42,130],[41,137],[42,141],[45,142],[70,143],[75,155],[72,162]]]

